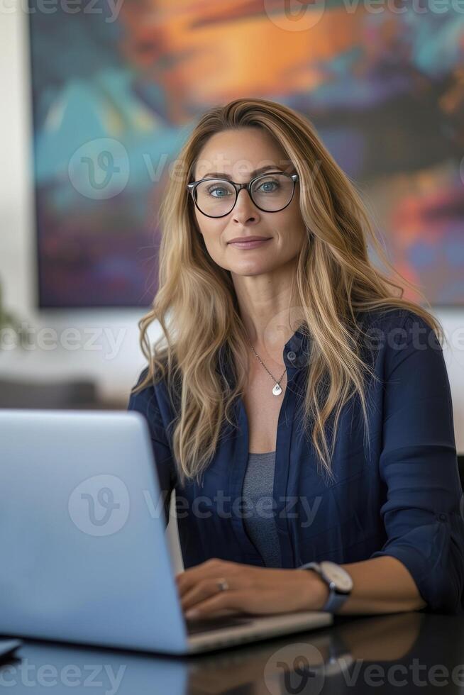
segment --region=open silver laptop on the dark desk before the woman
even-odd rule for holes
[[[186,620],[145,417],[0,410],[0,633],[186,655],[331,613]]]

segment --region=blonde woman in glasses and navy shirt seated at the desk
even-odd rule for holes
[[[205,113],[178,163],[128,407],[166,522],[176,490],[186,616],[460,613],[441,327],[371,264],[368,240],[392,269],[353,184],[263,99]]]

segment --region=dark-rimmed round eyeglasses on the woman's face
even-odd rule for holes
[[[195,206],[206,217],[225,217],[233,210],[240,191],[247,189],[255,206],[263,212],[279,212],[290,204],[298,174],[266,172],[248,184],[228,179],[199,179],[187,184]]]

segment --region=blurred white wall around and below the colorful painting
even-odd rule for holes
[[[19,5],[19,4],[18,4]],[[0,374],[46,378],[62,374],[89,375],[98,380],[101,394],[126,399],[145,360],[138,347],[140,310],[48,311],[33,309],[35,260],[33,257],[33,209],[31,180],[31,99],[29,94],[26,16],[21,11],[0,13],[0,278],[6,304],[37,330],[56,331],[57,347],[0,351]],[[445,350],[453,394],[458,450],[464,452],[464,307],[437,310],[448,338],[455,341]],[[65,349],[63,331],[76,328],[78,350]],[[99,330],[96,345],[89,346],[93,330]],[[460,346],[458,345],[459,335]],[[150,335],[154,338],[156,328]],[[116,341],[116,343],[114,342]],[[53,335],[45,345],[54,345]]]

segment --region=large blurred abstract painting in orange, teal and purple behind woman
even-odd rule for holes
[[[308,116],[395,267],[431,304],[464,303],[464,2],[53,9],[29,15],[40,306],[150,304],[170,164],[201,113],[239,96]]]

